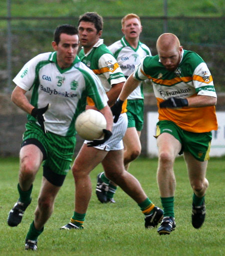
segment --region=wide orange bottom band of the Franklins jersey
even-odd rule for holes
[[[160,108],[159,103],[163,99],[156,98],[156,100],[159,121],[173,121],[181,129],[191,133],[207,133],[217,130],[215,106],[198,107],[197,111],[195,107]]]

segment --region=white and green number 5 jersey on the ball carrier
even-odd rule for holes
[[[32,88],[30,103],[50,108],[44,113],[45,128],[60,136],[75,135],[74,121],[85,110],[89,96],[98,109],[107,105],[107,96],[97,76],[76,56],[66,69],[57,65],[56,52],[42,53],[28,61],[13,79],[25,91]],[[28,120],[36,120],[28,114]]]

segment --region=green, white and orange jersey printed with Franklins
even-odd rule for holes
[[[169,97],[187,98],[194,95],[216,97],[210,71],[196,53],[184,50],[175,71],[165,69],[158,55],[145,57],[136,67],[133,77],[137,80],[151,79],[157,99],[159,120],[173,121],[181,129],[193,133],[217,130],[214,106],[159,108],[159,103]]]

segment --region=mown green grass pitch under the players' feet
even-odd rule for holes
[[[0,255],[24,255],[24,238],[33,219],[42,171],[39,170],[33,186],[32,203],[21,224],[7,226],[8,211],[17,200],[18,159],[0,159]],[[156,184],[156,159],[138,159],[130,165],[130,172],[140,181],[149,198],[160,206]],[[116,204],[101,204],[94,188],[95,177],[101,166],[91,172],[93,192],[83,230],[59,230],[73,213],[74,183],[71,172],[59,191],[55,209],[38,239],[38,251],[32,255],[224,255],[224,182],[225,158],[208,162],[206,220],[200,229],[191,226],[191,197],[186,167],[181,158],[175,162],[176,193],[175,218],[177,227],[170,235],[159,236],[156,229],[145,230],[143,215],[138,206],[121,189],[117,189]]]

